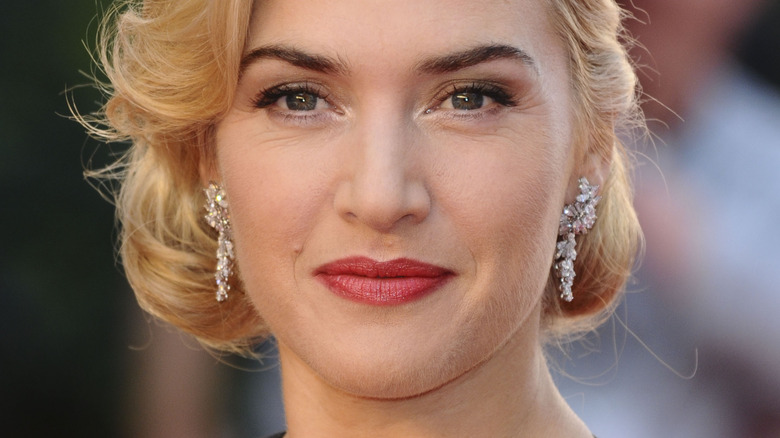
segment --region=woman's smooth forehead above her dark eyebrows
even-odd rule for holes
[[[385,71],[487,44],[547,69],[562,51],[545,0],[256,0],[247,51],[269,44]]]

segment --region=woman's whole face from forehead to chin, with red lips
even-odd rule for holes
[[[576,179],[545,3],[255,3],[214,178],[283,359],[406,397],[538,341]]]

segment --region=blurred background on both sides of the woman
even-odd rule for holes
[[[273,432],[273,360],[227,366],[148,321],[83,178],[121,151],[68,120],[64,93],[90,82],[84,44],[109,3],[0,3],[0,434]],[[640,79],[663,104],[645,105],[655,144],[635,146],[647,254],[617,318],[553,354],[556,379],[601,438],[780,437],[780,5],[633,4]],[[101,100],[73,95],[85,113]]]

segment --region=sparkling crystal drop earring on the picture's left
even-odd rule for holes
[[[217,301],[227,300],[230,285],[228,279],[233,273],[233,241],[230,240],[230,218],[227,210],[225,191],[217,183],[209,183],[204,190],[206,194],[206,222],[219,232],[217,237]]]

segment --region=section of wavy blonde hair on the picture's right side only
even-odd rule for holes
[[[553,340],[593,330],[614,310],[631,275],[641,242],[629,181],[629,154],[621,134],[646,133],[639,85],[628,55],[631,39],[614,0],[548,0],[558,35],[569,54],[576,111],[575,141],[610,162],[601,188],[598,220],[577,238],[571,303],[548,282],[545,329]],[[552,279],[552,277],[551,277]]]

